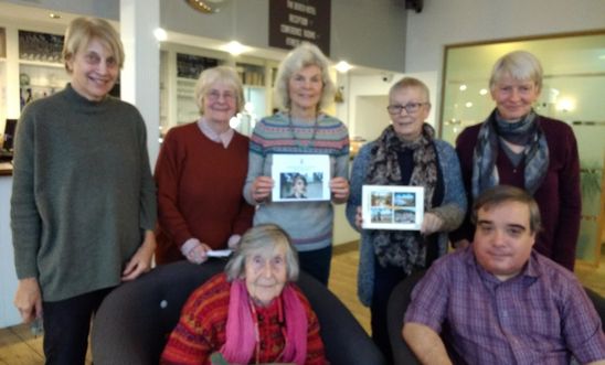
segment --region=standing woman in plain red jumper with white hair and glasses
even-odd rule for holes
[[[170,129],[156,164],[158,264],[201,264],[210,249],[234,248],[252,226],[254,207],[242,196],[248,138],[229,125],[244,105],[237,73],[226,66],[203,71],[195,100],[200,119]]]

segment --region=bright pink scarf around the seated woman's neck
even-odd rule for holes
[[[304,365],[307,357],[307,313],[291,286],[286,285],[282,291],[284,314],[286,318],[286,348],[282,362],[294,362]],[[275,300],[280,300],[276,298]],[[231,283],[229,314],[226,322],[226,342],[221,354],[230,363],[248,364],[256,345],[254,321],[250,308],[248,292],[244,280]],[[261,341],[263,341],[261,339]]]

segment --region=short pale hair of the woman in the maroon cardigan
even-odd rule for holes
[[[542,89],[542,65],[527,51],[513,51],[498,58],[491,69],[489,88],[493,90],[496,84],[507,76],[517,80],[531,80],[538,87],[538,92]]]

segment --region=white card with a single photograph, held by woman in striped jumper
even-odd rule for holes
[[[327,154],[274,154],[274,202],[330,200],[330,158]]]

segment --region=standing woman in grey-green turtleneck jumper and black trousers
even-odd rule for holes
[[[71,83],[23,110],[11,226],[24,322],[44,319],[46,364],[84,364],[93,313],[149,270],[156,190],[146,127],[109,96],[124,63],[105,20],[77,18],[63,47]]]

